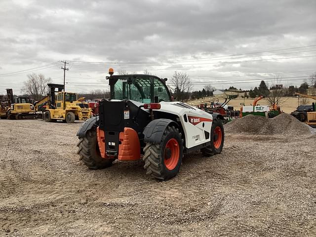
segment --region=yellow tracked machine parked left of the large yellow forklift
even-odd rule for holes
[[[13,97],[13,90],[6,89],[8,96],[8,108],[6,111],[9,119],[37,118],[35,107],[28,97]]]

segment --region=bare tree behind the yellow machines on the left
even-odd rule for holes
[[[51,78],[45,78],[42,74],[28,74],[28,79],[23,82],[22,93],[30,95],[34,100],[40,100],[48,93],[47,83]]]

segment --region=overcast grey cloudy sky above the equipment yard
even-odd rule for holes
[[[195,89],[299,85],[316,71],[315,0],[1,0],[0,94],[28,73],[66,90],[107,89],[108,68]],[[167,81],[168,82],[168,81]]]

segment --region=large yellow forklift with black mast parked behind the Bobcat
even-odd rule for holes
[[[77,94],[63,91],[62,84],[48,83],[48,100],[43,118],[46,122],[63,120],[73,123],[75,120],[87,120],[91,117],[88,103],[77,100]],[[58,91],[55,91],[56,88]],[[56,96],[57,94],[57,96]]]

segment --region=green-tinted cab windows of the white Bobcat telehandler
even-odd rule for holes
[[[170,101],[166,85],[158,78],[150,76],[118,77],[113,86],[112,99],[129,99],[141,103]]]

